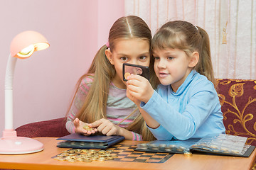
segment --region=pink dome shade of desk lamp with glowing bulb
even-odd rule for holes
[[[34,51],[44,50],[50,45],[46,38],[33,30],[27,30],[19,33],[11,41],[11,57],[24,59],[30,57]]]

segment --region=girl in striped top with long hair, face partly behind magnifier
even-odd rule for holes
[[[122,64],[139,64],[150,68],[150,81],[156,86],[150,42],[151,30],[142,18],[126,16],[114,22],[107,45],[100,48],[78,81],[66,122],[70,133],[101,132],[126,140],[154,140],[137,106],[127,98],[127,84],[122,79]],[[85,125],[92,130],[85,130]]]

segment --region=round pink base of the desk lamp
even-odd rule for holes
[[[43,143],[28,137],[2,137],[0,154],[31,154],[43,150]]]

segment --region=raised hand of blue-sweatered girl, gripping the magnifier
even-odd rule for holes
[[[144,77],[134,74],[131,74],[127,79],[127,97],[137,106],[139,101],[147,103],[154,94],[154,89],[149,81]]]

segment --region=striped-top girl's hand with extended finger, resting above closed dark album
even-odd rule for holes
[[[97,128],[97,131],[102,132],[103,135],[119,135],[120,127],[118,125],[114,125],[114,123],[105,118],[96,120],[94,123],[90,123],[89,125],[92,128]]]

